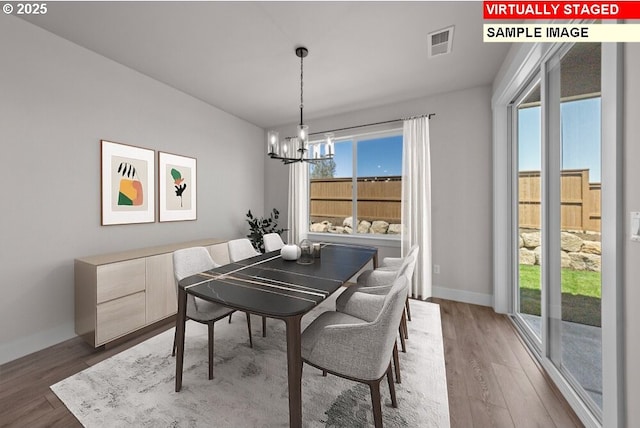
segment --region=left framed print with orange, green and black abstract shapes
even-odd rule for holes
[[[101,224],[153,223],[155,151],[100,140]]]

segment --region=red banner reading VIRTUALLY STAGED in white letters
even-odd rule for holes
[[[640,19],[640,1],[484,1],[484,19]]]

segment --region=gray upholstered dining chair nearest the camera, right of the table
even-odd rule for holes
[[[303,362],[323,374],[328,372],[369,385],[376,428],[382,427],[380,382],[385,374],[391,404],[398,407],[391,356],[408,292],[407,277],[401,275],[386,295],[355,293],[349,305],[359,316],[324,312],[302,333]],[[376,310],[371,310],[374,307]],[[366,309],[360,312],[357,308]]]

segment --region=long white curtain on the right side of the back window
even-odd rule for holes
[[[429,119],[407,119],[402,147],[402,255],[414,244],[420,246],[411,296],[432,296],[431,281],[431,156]]]

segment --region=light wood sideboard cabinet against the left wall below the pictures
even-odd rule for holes
[[[206,247],[216,263],[229,263],[227,241],[221,239],[76,259],[76,334],[99,347],[174,315],[172,253],[195,246]]]

